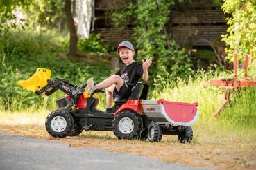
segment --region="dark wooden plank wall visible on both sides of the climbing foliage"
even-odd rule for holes
[[[103,41],[117,46],[120,41],[130,39],[133,28],[124,30],[113,28],[110,14],[118,8],[115,3],[121,0],[95,0],[94,30],[99,33]],[[129,0],[133,1],[133,0]],[[126,1],[121,1],[126,3]],[[171,9],[167,30],[180,46],[185,48],[207,48],[212,42],[219,39],[228,28],[221,9],[214,6],[203,7],[199,2],[193,7],[186,3],[178,4]]]

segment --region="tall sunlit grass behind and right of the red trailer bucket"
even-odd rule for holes
[[[195,78],[189,78],[189,82],[180,79],[176,86],[167,78],[160,78],[157,84],[164,84],[163,91],[153,89],[152,97],[176,102],[198,102],[199,117],[193,127],[199,142],[241,142],[244,139],[256,142],[256,89],[234,91],[230,104],[220,116],[214,117],[214,112],[224,100],[224,91],[216,86],[204,88],[203,83],[211,78],[212,74],[200,72]]]

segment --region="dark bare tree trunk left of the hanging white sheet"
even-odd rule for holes
[[[78,37],[76,35],[76,26],[71,13],[71,0],[65,0],[65,14],[67,16],[67,25],[69,27],[69,50],[68,55],[76,58],[76,48]]]

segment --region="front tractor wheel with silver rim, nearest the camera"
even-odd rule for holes
[[[53,111],[46,117],[46,131],[55,138],[65,138],[71,133],[73,126],[73,117],[65,110]]]

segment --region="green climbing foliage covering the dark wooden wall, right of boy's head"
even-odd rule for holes
[[[121,13],[114,13],[114,26],[128,24],[128,19],[133,18],[135,49],[138,49],[137,59],[153,58],[149,69],[151,77],[169,73],[169,79],[187,77],[190,73],[191,62],[185,50],[179,48],[171,35],[164,31],[164,26],[169,20],[170,8],[173,1],[167,0],[138,0],[123,7]],[[126,22],[123,22],[126,19]]]

